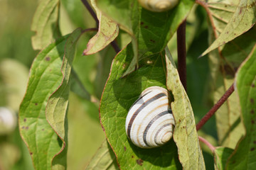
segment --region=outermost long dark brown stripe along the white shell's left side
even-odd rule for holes
[[[139,114],[140,111],[142,111],[143,108],[145,108],[146,106],[149,105],[149,103],[151,103],[152,101],[155,101],[158,98],[161,98],[163,96],[166,96],[166,94],[161,93],[161,94],[157,94],[156,96],[149,98],[147,101],[145,101],[142,106],[140,106],[136,112],[134,112],[134,114],[132,115],[131,120],[129,120],[129,124],[128,124],[128,128],[127,128],[127,135],[128,137],[131,139],[131,128],[132,128],[132,123],[134,122],[135,118],[137,117],[137,115]]]

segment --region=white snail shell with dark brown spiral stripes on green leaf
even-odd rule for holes
[[[134,145],[152,148],[171,140],[174,125],[168,91],[151,86],[142,91],[129,109],[125,130]]]

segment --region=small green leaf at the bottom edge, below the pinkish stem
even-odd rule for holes
[[[228,158],[233,153],[234,149],[228,147],[217,147],[214,150],[214,166],[215,169],[223,170],[225,169],[225,164]]]

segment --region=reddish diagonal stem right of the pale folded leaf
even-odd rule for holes
[[[220,98],[220,100],[215,103],[213,108],[206,113],[206,115],[203,116],[203,118],[199,121],[199,123],[196,125],[196,130],[200,130],[204,124],[214,115],[214,113],[220,108],[220,106],[223,105],[223,103],[228,99],[228,97],[233,93],[234,91],[234,84],[230,86],[230,88],[225,92],[225,94]]]

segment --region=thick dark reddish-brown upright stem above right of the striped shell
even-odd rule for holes
[[[177,30],[178,48],[178,75],[186,90],[186,20],[181,23]]]

